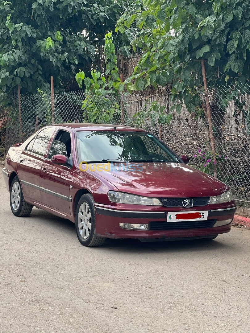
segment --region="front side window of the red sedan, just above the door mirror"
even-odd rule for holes
[[[60,130],[58,131],[55,139],[53,140],[48,159],[51,159],[53,155],[65,155],[66,157],[70,157],[71,154],[71,138],[70,133],[67,131]]]

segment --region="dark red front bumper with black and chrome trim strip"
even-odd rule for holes
[[[119,207],[120,208],[120,207]],[[199,210],[200,207],[193,207],[193,210]],[[209,209],[210,208],[210,209]],[[165,239],[169,238],[193,238],[216,236],[220,233],[229,232],[231,229],[231,221],[233,220],[236,206],[225,206],[214,209],[211,207],[203,207],[202,210],[208,210],[208,221],[211,220],[209,227],[199,228],[182,228],[174,230],[150,230],[150,222],[157,221],[160,224],[166,225],[167,212],[172,211],[172,208],[161,207],[161,210],[125,210],[117,209],[112,206],[95,204],[96,210],[96,234],[107,238],[137,238],[137,239]],[[154,209],[154,208],[153,208]],[[163,210],[165,209],[165,210]],[[175,208],[176,209],[176,208]],[[184,209],[180,209],[184,211]],[[222,221],[227,221],[223,223]],[[218,224],[223,223],[224,225]],[[228,223],[229,222],[229,223]],[[178,222],[176,222],[178,224]],[[140,226],[137,228],[130,226]],[[215,226],[213,226],[215,225]]]

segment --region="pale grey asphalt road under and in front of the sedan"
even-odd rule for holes
[[[249,229],[86,248],[70,221],[15,217],[0,177],[0,332],[250,332]]]

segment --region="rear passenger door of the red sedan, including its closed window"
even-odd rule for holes
[[[39,191],[40,170],[44,161],[44,155],[48,148],[55,128],[45,128],[25,147],[17,163],[17,173],[22,183],[25,197],[32,201],[41,202]]]

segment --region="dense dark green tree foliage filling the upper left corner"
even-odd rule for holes
[[[105,33],[129,6],[123,0],[0,1],[0,101],[8,103],[18,84],[23,94],[49,90],[51,75],[55,91],[70,89],[79,68],[89,73],[97,66]],[[116,47],[126,54],[131,40],[120,36]]]

